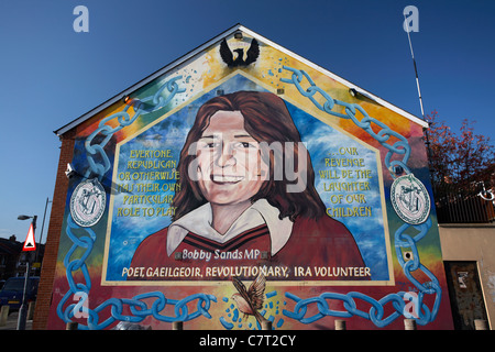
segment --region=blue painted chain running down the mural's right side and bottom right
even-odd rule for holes
[[[407,162],[410,156],[410,146],[406,138],[391,130],[385,123],[370,117],[360,105],[333,99],[324,90],[318,87],[306,72],[287,66],[283,67],[284,69],[292,72],[292,77],[290,79],[280,78],[282,81],[294,85],[304,97],[307,97],[321,111],[341,119],[349,119],[353,121],[355,125],[366,131],[373,139],[375,139],[377,142],[380,142],[380,144],[388,150],[385,156],[385,166],[391,172],[393,178],[397,177],[395,173],[396,167],[399,167],[398,169],[402,168],[402,170],[404,170],[406,174],[410,174],[410,169],[407,167]],[[309,85],[306,89],[301,86],[304,78],[306,78],[307,84]],[[319,94],[321,97],[323,97],[324,102],[322,105],[315,98],[316,94]],[[345,113],[333,111],[333,108],[336,106],[342,107]],[[358,119],[358,113],[362,116],[361,120]],[[373,131],[372,123],[381,128],[377,133]],[[397,139],[398,141],[396,141],[394,144],[387,143],[391,136]],[[402,160],[392,161],[394,154],[404,156]],[[399,292],[396,294],[389,294],[382,299],[376,300],[370,296],[355,292],[350,292],[346,295],[324,293],[318,297],[306,299],[301,299],[290,293],[286,293],[286,297],[296,301],[296,306],[294,307],[294,311],[284,309],[284,315],[289,318],[299,320],[302,323],[311,323],[326,316],[340,318],[359,316],[373,321],[373,323],[380,328],[389,324],[403,315],[407,315],[407,317],[409,318],[414,317],[418,324],[427,324],[433,321],[440,307],[442,290],[437,277],[435,277],[435,275],[419,262],[419,252],[416,245],[416,243],[428,233],[428,230],[430,228],[431,219],[428,218],[424,223],[417,226],[404,223],[399,229],[397,229],[395,233],[395,251],[397,254],[397,260],[403,267],[406,277],[417,288],[417,294],[415,293],[415,295],[411,295],[411,293]],[[407,234],[406,231],[409,231],[410,229],[419,231],[419,233],[414,237]],[[406,250],[413,253],[411,258],[407,261],[404,258],[403,253],[403,251]],[[428,276],[430,282],[421,284],[413,275],[413,272],[416,271],[420,271],[426,276]],[[431,311],[428,306],[424,304],[425,295],[436,295],[433,308],[431,309]],[[346,310],[339,311],[330,309],[330,305],[328,302],[329,299],[334,301],[342,301],[343,307]],[[358,309],[356,300],[362,300],[365,304],[371,305],[369,311]],[[415,309],[413,314],[406,311],[406,300],[414,301]],[[306,317],[308,306],[314,304],[317,305],[319,312],[314,315],[312,317]],[[388,317],[384,317],[384,307],[388,304],[392,305],[395,311],[392,312]]]

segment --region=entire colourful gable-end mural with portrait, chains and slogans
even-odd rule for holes
[[[77,127],[50,329],[451,329],[422,127],[232,34]]]

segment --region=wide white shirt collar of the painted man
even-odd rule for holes
[[[167,255],[170,256],[189,231],[209,240],[226,243],[238,234],[263,223],[268,227],[272,242],[271,253],[275,255],[287,243],[293,231],[293,222],[287,217],[278,219],[278,215],[279,210],[272,207],[266,199],[256,200],[224,234],[220,234],[211,227],[210,204],[202,205],[170,223],[167,232]]]

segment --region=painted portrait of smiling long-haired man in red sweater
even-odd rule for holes
[[[288,267],[287,279],[295,265],[365,266],[350,231],[326,213],[278,96],[237,91],[204,103],[178,172],[173,221],[144,239],[131,267],[264,263]]]

